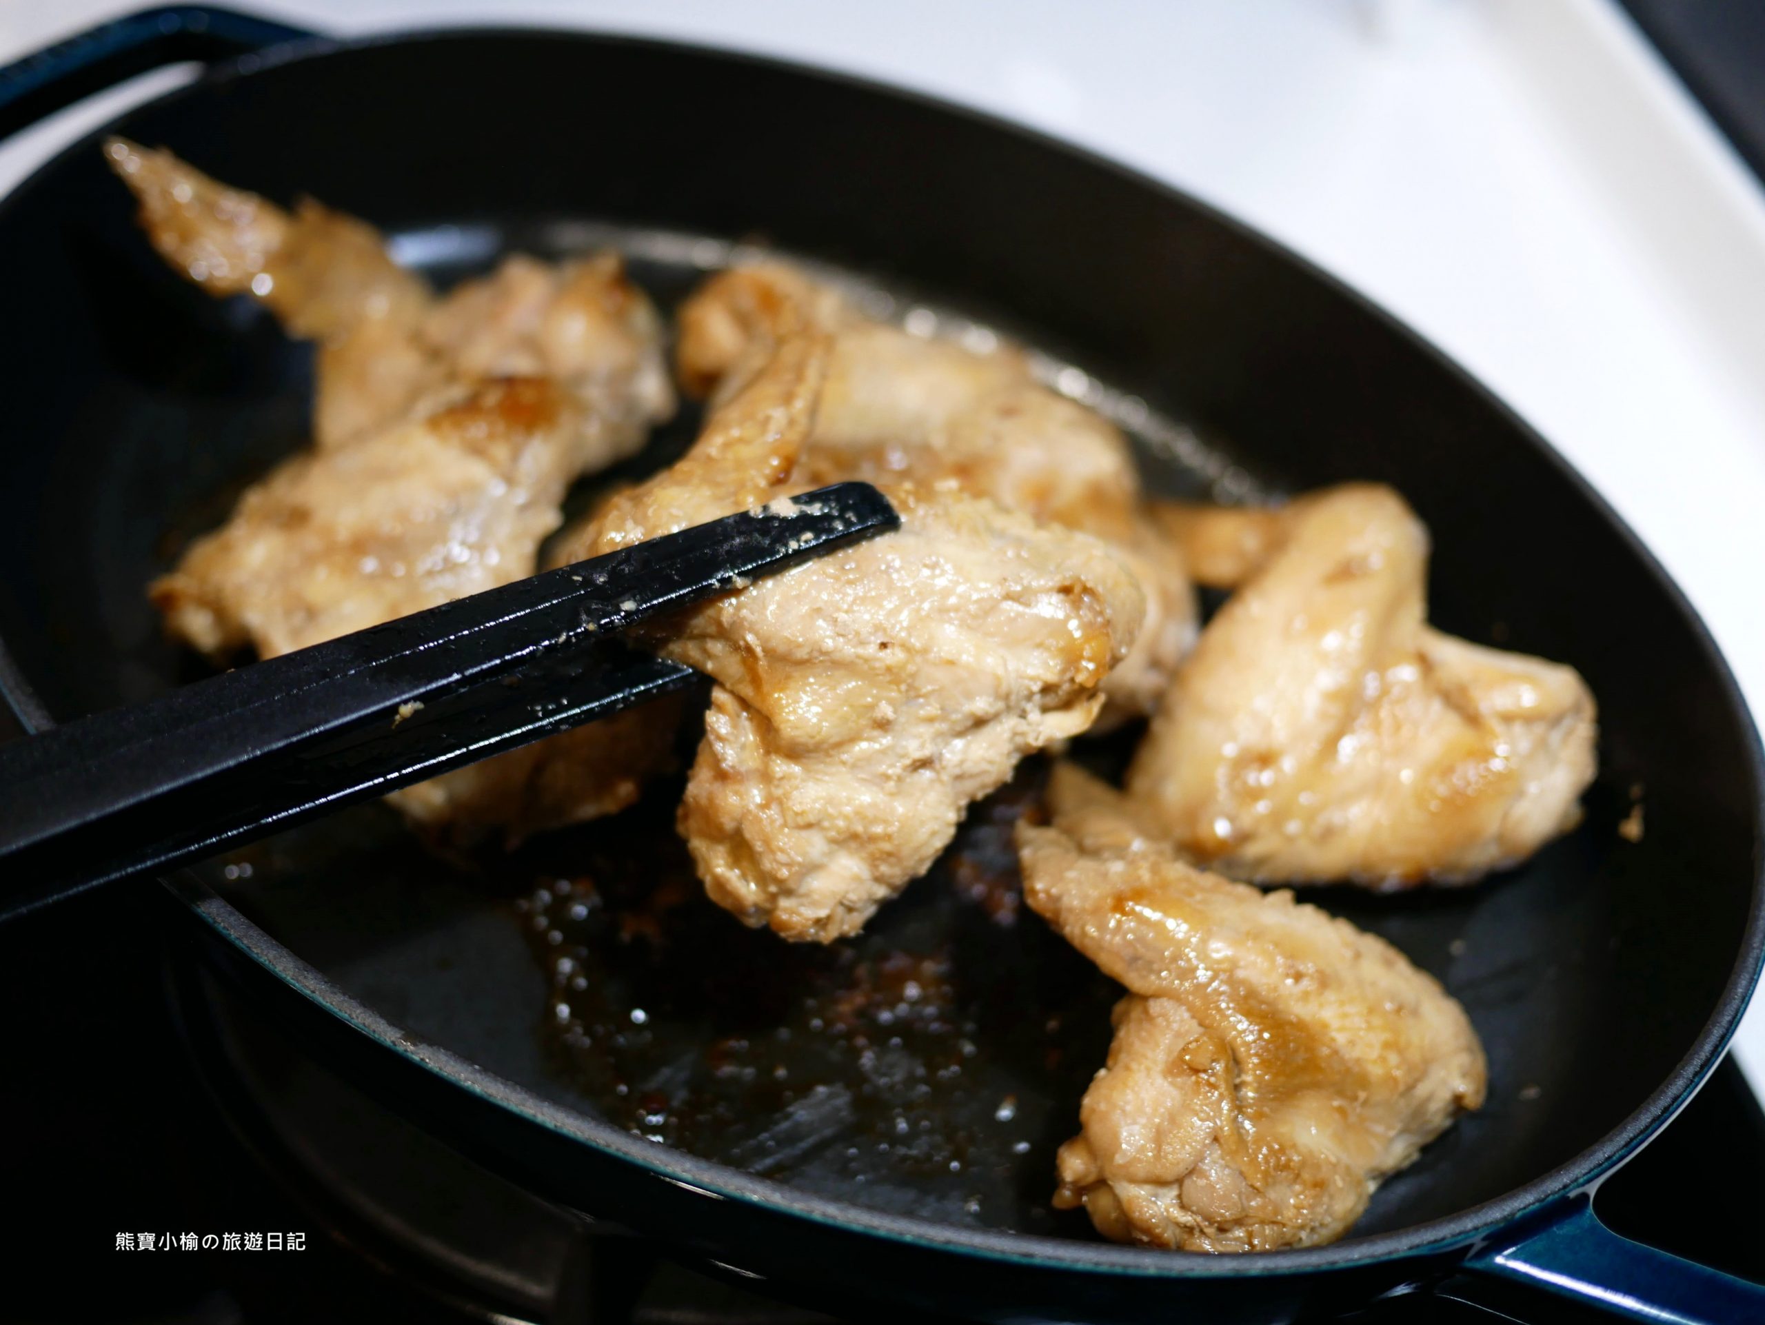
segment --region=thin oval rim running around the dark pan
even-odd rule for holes
[[[1470,390],[1527,443],[1550,466],[1553,466],[1581,501],[1606,522],[1620,542],[1638,558],[1654,586],[1666,596],[1682,625],[1691,632],[1703,660],[1714,670],[1717,685],[1728,700],[1730,715],[1739,722],[1746,764],[1753,783],[1753,900],[1746,930],[1740,935],[1735,965],[1717,997],[1710,1016],[1705,1020],[1687,1053],[1666,1076],[1666,1080],[1643,1099],[1622,1122],[1608,1131],[1599,1142],[1564,1161],[1557,1168],[1530,1182],[1483,1201],[1481,1205],[1458,1210],[1440,1219],[1431,1219],[1407,1228],[1371,1233],[1361,1239],[1336,1242],[1324,1247],[1287,1249],[1260,1253],[1251,1260],[1236,1256],[1207,1256],[1202,1253],[1151,1251],[1144,1247],[1126,1247],[1107,1242],[1082,1242],[1077,1239],[1059,1239],[1033,1233],[1011,1233],[1003,1230],[971,1230],[953,1224],[941,1224],[930,1219],[907,1216],[890,1216],[861,1205],[824,1196],[814,1196],[789,1187],[787,1184],[755,1177],[741,1170],[701,1159],[683,1150],[667,1150],[651,1142],[632,1136],[612,1124],[593,1119],[582,1112],[554,1104],[533,1090],[507,1078],[489,1073],[468,1062],[457,1053],[441,1046],[427,1044],[420,1037],[402,1030],[372,1007],[337,988],[316,969],[307,965],[291,949],[279,944],[265,930],[256,926],[233,907],[226,898],[203,884],[194,875],[184,872],[164,879],[162,884],[184,905],[196,912],[222,940],[249,956],[267,976],[284,983],[293,993],[302,995],[319,1011],[344,1022],[357,1032],[378,1041],[381,1048],[397,1053],[417,1067],[436,1076],[443,1085],[473,1094],[491,1104],[505,1108],[531,1126],[558,1133],[567,1140],[588,1145],[602,1154],[635,1164],[650,1175],[676,1186],[683,1186],[701,1194],[740,1201],[759,1207],[770,1214],[807,1219],[845,1231],[863,1231],[884,1237],[893,1242],[946,1251],[965,1253],[1010,1265],[1093,1272],[1123,1277],[1145,1279],[1230,1279],[1239,1276],[1299,1276],[1326,1270],[1343,1270],[1357,1265],[1391,1261],[1398,1258],[1419,1258],[1446,1253],[1458,1247],[1470,1247],[1488,1235],[1523,1219],[1543,1207],[1585,1191],[1601,1180],[1613,1168],[1622,1164],[1656,1131],[1691,1099],[1716,1067],[1721,1053],[1733,1037],[1747,999],[1760,979],[1765,965],[1765,746],[1761,746],[1760,729],[1747,707],[1746,697],[1717,648],[1709,626],[1691,605],[1684,591],[1666,573],[1647,545],[1610,506],[1610,503],[1588,483],[1588,480],[1571,466],[1550,441],[1546,441],[1527,420],[1497,397],[1488,386],[1474,378],[1458,362],[1449,358],[1424,335],[1405,325],[1394,314],[1361,295],[1333,273],[1318,268],[1304,256],[1290,251],[1278,240],[1248,226],[1237,217],[1221,212],[1200,198],[1183,189],[1156,180],[1124,162],[1105,157],[1089,148],[1064,141],[1038,129],[980,111],[957,102],[948,102],[911,88],[900,88],[879,79],[863,78],[835,69],[821,69],[794,60],[755,55],[743,49],[699,46],[692,42],[634,37],[625,34],[604,34],[595,30],[558,30],[545,26],[434,26],[417,30],[399,30],[371,34],[358,39],[337,41],[314,35],[311,39],[291,41],[259,53],[247,53],[219,60],[205,69],[192,83],[154,97],[132,108],[99,131],[78,139],[0,199],[0,217],[9,215],[21,203],[28,201],[44,180],[64,162],[92,152],[109,132],[118,132],[138,115],[166,104],[201,95],[217,85],[235,78],[268,71],[284,64],[302,64],[330,55],[349,55],[383,46],[408,46],[422,42],[450,41],[533,41],[575,42],[600,48],[627,48],[653,51],[669,56],[695,60],[713,60],[738,64],[768,74],[800,78],[810,83],[835,85],[861,92],[884,101],[907,102],[934,115],[953,116],[978,125],[992,134],[1017,138],[1043,152],[1052,152],[1075,161],[1094,171],[1114,175],[1137,189],[1174,201],[1213,224],[1223,226],[1239,238],[1250,240],[1276,258],[1290,263],[1311,281],[1322,282],[1329,291],[1350,302],[1364,316],[1382,323],[1396,337],[1431,358],[1463,388]],[[26,732],[35,732],[53,725],[41,699],[35,695],[23,670],[11,656],[5,640],[0,639],[0,697],[7,700],[18,715]]]

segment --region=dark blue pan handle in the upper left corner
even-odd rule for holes
[[[145,9],[0,69],[0,139],[148,69],[224,60],[314,35],[210,5]]]

